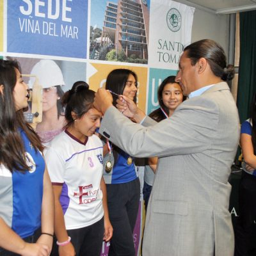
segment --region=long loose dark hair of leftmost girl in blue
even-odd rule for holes
[[[36,132],[24,120],[23,109],[15,111],[13,90],[17,83],[16,69],[21,73],[16,60],[0,60],[0,84],[3,84],[3,93],[0,92],[0,163],[10,172],[24,172],[29,170],[29,166],[19,129],[26,133],[36,150],[42,152],[44,147]]]

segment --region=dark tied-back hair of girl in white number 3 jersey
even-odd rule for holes
[[[66,128],[74,124],[72,111],[76,113],[77,118],[81,118],[93,107],[94,96],[95,92],[90,90],[89,85],[84,81],[77,81],[73,84],[71,90],[64,93],[62,104],[65,106]]]

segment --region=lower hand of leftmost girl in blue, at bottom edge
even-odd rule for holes
[[[39,243],[25,243],[19,254],[22,256],[49,256],[51,250],[49,246]]]

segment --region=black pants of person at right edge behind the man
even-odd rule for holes
[[[239,185],[239,217],[235,227],[235,256],[256,255],[256,177],[242,173]]]

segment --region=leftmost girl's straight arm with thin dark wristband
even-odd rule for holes
[[[46,244],[51,249],[54,232],[54,198],[47,168],[45,168],[44,172],[44,194],[42,200],[41,223],[42,233],[47,234],[42,234],[36,243]],[[52,236],[50,236],[50,234]]]

